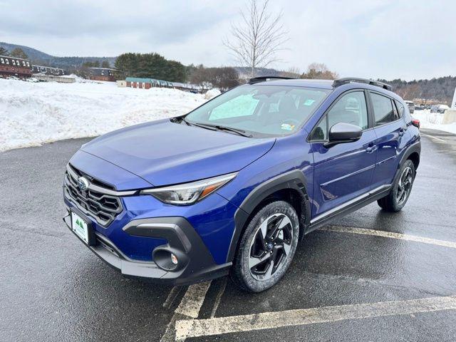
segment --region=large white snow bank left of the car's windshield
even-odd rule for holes
[[[93,137],[136,123],[182,115],[204,101],[203,95],[168,88],[0,79],[0,151]]]

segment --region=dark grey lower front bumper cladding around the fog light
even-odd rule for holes
[[[81,212],[78,214],[86,217]],[[63,221],[73,232],[69,212]],[[126,276],[150,278],[164,284],[186,285],[227,275],[232,265],[231,262],[216,264],[202,239],[184,217],[136,219],[126,224],[123,231],[142,239],[158,238],[166,241],[153,250],[154,261],[138,261],[128,258],[107,237],[95,231],[95,245],[88,246],[84,243],[86,247]],[[170,253],[177,256],[177,265],[162,262]]]

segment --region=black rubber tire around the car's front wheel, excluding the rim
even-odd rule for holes
[[[273,214],[286,214],[291,221],[293,227],[293,239],[291,241],[290,254],[284,260],[284,264],[281,265],[270,279],[259,281],[254,279],[249,269],[249,257],[250,257],[250,245],[254,239],[259,226],[265,219],[270,217]],[[296,211],[288,202],[276,201],[267,204],[265,207],[259,210],[257,214],[254,215],[252,220],[247,225],[247,228],[242,235],[241,242],[239,244],[239,251],[236,258],[237,271],[239,272],[240,278],[244,283],[245,287],[249,291],[260,292],[266,289],[269,289],[271,286],[274,286],[282,276],[284,276],[286,270],[289,268],[291,261],[293,260],[294,253],[296,252],[296,246],[299,240],[299,219]]]

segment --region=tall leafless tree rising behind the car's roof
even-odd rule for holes
[[[276,53],[288,40],[281,24],[282,12],[273,16],[268,11],[269,0],[259,4],[250,0],[247,9],[241,11],[242,21],[232,24],[232,37],[223,43],[242,66],[251,68],[252,77],[256,68],[266,68],[279,61]]]

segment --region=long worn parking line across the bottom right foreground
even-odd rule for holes
[[[281,328],[284,326],[303,326],[347,319],[416,314],[451,309],[456,309],[456,296],[325,306],[315,309],[298,309],[192,321],[177,321],[176,338],[182,341],[185,338],[214,336],[222,333],[239,333],[242,331]]]

